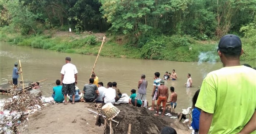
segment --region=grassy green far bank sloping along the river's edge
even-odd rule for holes
[[[105,33],[83,32],[79,35],[74,32],[45,30],[37,36],[22,36],[0,32],[0,40],[12,45],[31,46],[40,49],[59,51],[64,53],[79,53],[97,55],[101,41]],[[116,36],[106,35],[101,56],[118,58],[140,58],[169,61],[202,61],[216,62],[219,58],[216,53],[218,41],[196,41],[188,36],[173,35],[166,37],[141,37],[137,44],[133,41],[133,35]],[[143,41],[143,39],[145,41]],[[143,43],[144,42],[144,43]],[[256,48],[250,45],[248,39],[242,38],[245,54],[241,61],[256,66]]]

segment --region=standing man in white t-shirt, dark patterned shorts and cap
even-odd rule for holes
[[[62,84],[62,94],[64,94],[64,105],[67,103],[67,94],[72,96],[73,102],[75,104],[75,94],[76,94],[76,84],[77,84],[77,69],[76,66],[71,64],[71,58],[66,57],[66,64],[62,66],[61,69],[61,84]]]

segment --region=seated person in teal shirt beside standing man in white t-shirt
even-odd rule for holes
[[[60,80],[56,80],[56,85],[55,87],[53,87],[53,99],[55,102],[57,103],[61,103],[64,101],[64,96],[62,94],[62,85],[61,85],[61,81]]]

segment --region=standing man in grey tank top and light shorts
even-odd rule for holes
[[[147,86],[148,86],[148,81],[145,80],[146,76],[145,74],[141,75],[141,80],[138,82],[138,92],[135,97],[135,107],[137,107],[137,100],[142,101],[142,105],[144,106],[144,102],[146,101],[146,93],[147,93]]]

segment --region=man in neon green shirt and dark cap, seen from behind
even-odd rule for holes
[[[240,65],[236,35],[223,36],[217,52],[224,67],[205,77],[195,105],[199,134],[256,134],[256,70]]]

